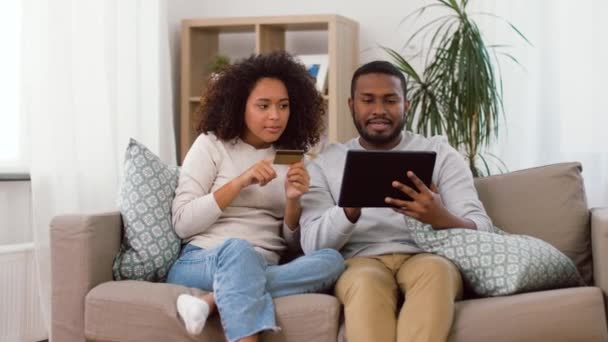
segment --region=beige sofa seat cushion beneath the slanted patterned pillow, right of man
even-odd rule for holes
[[[456,303],[449,342],[607,341],[604,298],[578,287]]]

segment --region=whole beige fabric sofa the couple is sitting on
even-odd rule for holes
[[[541,238],[568,255],[587,286],[456,303],[451,342],[608,341],[608,208],[589,209],[578,163],[475,180],[496,226]],[[62,215],[51,222],[52,342],[224,341],[217,315],[200,336],[183,328],[175,301],[201,291],[164,283],[113,281],[120,213]],[[345,341],[330,294],[275,299],[278,333],[263,341]]]

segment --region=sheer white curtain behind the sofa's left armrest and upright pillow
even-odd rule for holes
[[[116,210],[129,137],[175,164],[165,0],[24,0],[36,260],[50,322],[49,222]]]

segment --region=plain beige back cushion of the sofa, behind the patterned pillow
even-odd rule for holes
[[[561,163],[475,179],[494,225],[537,237],[570,257],[592,279],[589,209],[582,167]]]

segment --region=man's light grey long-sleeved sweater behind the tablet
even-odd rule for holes
[[[302,196],[300,218],[304,252],[334,248],[347,258],[421,252],[402,214],[390,208],[363,208],[359,220],[351,223],[344,210],[336,205],[349,149],[363,149],[358,138],[346,144],[330,145],[307,166],[310,191]],[[492,231],[492,222],[477,197],[471,171],[445,137],[425,138],[404,132],[393,150],[435,151],[433,183],[439,189],[443,204],[454,215],[475,222],[478,230]]]

